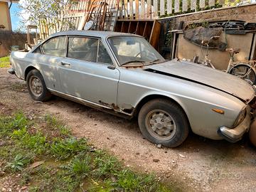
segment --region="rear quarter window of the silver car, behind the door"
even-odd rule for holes
[[[43,54],[65,57],[65,36],[51,38],[41,46]]]

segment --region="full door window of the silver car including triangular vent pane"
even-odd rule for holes
[[[112,60],[105,46],[97,38],[68,38],[68,58],[107,65],[112,64]]]

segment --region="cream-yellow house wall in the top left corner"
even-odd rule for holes
[[[6,2],[0,1],[0,25],[5,28],[0,28],[1,30],[11,31],[11,17],[9,12],[9,6]]]

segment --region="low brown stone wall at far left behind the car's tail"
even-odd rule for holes
[[[0,31],[0,57],[9,55],[11,46],[18,46],[20,50],[25,48],[26,33],[14,33]]]

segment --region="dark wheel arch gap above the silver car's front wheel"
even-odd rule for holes
[[[138,104],[136,105],[135,107],[135,110],[134,110],[134,116],[138,116],[139,114],[139,110],[142,109],[142,106],[146,104],[146,102],[149,102],[151,100],[154,100],[154,99],[164,99],[164,100],[169,100],[171,102],[174,102],[176,103],[176,105],[178,105],[179,107],[181,107],[181,110],[183,110],[183,112],[186,114],[186,118],[188,120],[188,124],[189,124],[189,127],[190,126],[190,122],[189,122],[189,119],[188,119],[188,112],[186,111],[185,107],[181,104],[181,102],[178,102],[177,100],[175,100],[174,98],[172,97],[169,97],[167,95],[160,95],[160,94],[151,94],[151,95],[146,95],[145,97],[142,98],[142,100],[140,100],[138,102]]]

